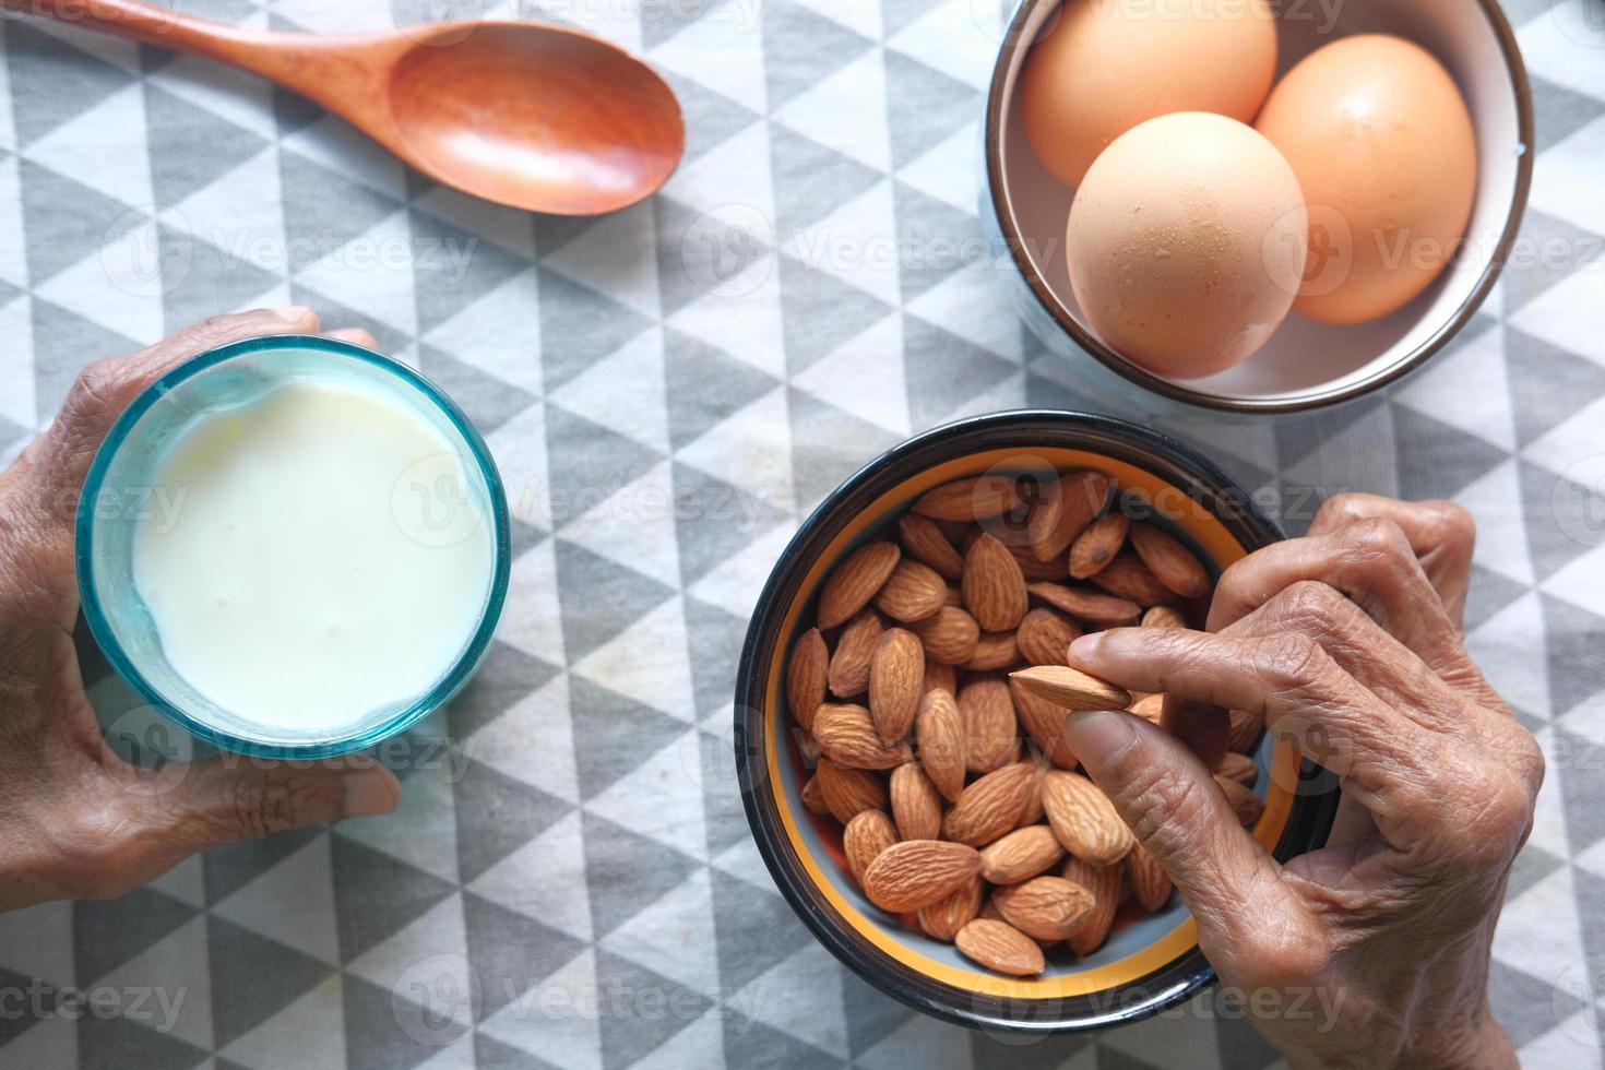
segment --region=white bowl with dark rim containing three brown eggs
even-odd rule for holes
[[[1305,412],[1472,321],[1533,136],[1494,0],[1022,0],[981,220],[1074,385],[1149,412]]]

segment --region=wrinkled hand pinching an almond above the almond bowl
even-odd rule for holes
[[[1221,980],[1268,991],[1249,1019],[1294,1067],[1515,1067],[1488,1007],[1510,863],[1544,776],[1533,736],[1467,656],[1470,517],[1343,496],[1305,539],[1221,576],[1209,632],[1119,629],[1072,663],[1173,706],[1263,717],[1339,775],[1327,845],[1278,865],[1189,743],[1083,714],[1069,743],[1181,890]],[[1331,1015],[1278,1014],[1289,998]]]

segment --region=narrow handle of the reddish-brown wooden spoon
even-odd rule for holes
[[[350,96],[372,64],[361,53],[392,35],[319,37],[244,30],[140,0],[0,0],[0,8],[244,67],[324,104]],[[331,95],[329,90],[340,90]]]

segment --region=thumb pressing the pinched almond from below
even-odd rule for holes
[[[1064,735],[1087,775],[1180,889],[1217,967],[1226,966],[1217,956],[1250,954],[1266,934],[1266,918],[1290,924],[1305,916],[1276,861],[1239,825],[1209,770],[1180,740],[1115,712],[1071,714]]]

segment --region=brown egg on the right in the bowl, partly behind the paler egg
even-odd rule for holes
[[[1310,263],[1294,310],[1355,324],[1412,302],[1456,255],[1477,196],[1477,130],[1425,50],[1367,34],[1287,72],[1260,133],[1310,209]]]

